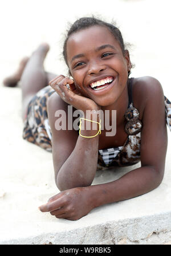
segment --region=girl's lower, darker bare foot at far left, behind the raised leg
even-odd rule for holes
[[[19,80],[21,79],[23,70],[25,69],[25,66],[28,62],[28,57],[25,57],[21,60],[21,62],[19,63],[19,67],[18,70],[11,76],[8,76],[7,78],[5,78],[3,80],[3,85],[6,87],[15,87],[17,86],[17,83],[19,82]]]

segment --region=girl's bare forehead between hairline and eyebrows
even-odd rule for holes
[[[74,55],[91,52],[103,44],[111,44],[121,51],[119,42],[107,27],[92,26],[75,32],[68,38],[67,60],[70,62]]]

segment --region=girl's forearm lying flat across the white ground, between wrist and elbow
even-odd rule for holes
[[[157,188],[162,181],[162,175],[151,166],[143,166],[132,170],[116,181],[107,184],[89,186],[93,208],[127,200],[140,196]]]

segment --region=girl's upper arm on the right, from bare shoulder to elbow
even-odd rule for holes
[[[165,121],[165,103],[161,84],[147,77],[143,84],[145,108],[141,131],[141,166],[150,165],[162,179],[165,168],[168,136]]]

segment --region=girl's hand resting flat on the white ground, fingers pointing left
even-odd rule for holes
[[[93,208],[89,187],[64,190],[51,197],[47,204],[39,206],[41,212],[50,212],[56,218],[71,221],[79,220]]]

